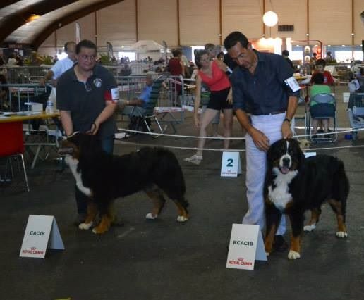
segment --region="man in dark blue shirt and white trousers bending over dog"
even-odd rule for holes
[[[266,151],[278,139],[293,136],[291,120],[298,103],[297,85],[292,68],[282,56],[254,50],[243,33],[231,32],[224,40],[224,46],[238,64],[231,75],[233,109],[247,132],[246,187],[249,209],[242,223],[260,225],[262,229],[265,226],[263,186]],[[293,90],[286,82],[291,84]],[[277,251],[287,248],[283,239],[285,231],[285,220],[282,218],[274,242]]]

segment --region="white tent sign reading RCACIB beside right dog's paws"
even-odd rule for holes
[[[233,224],[226,268],[254,270],[255,261],[267,261],[259,225]]]

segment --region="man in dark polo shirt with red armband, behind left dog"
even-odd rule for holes
[[[63,129],[67,136],[76,131],[97,136],[102,149],[112,154],[116,132],[114,111],[119,99],[116,81],[106,68],[96,64],[97,48],[91,41],[79,42],[76,55],[78,63],[57,82],[57,108]],[[75,223],[82,223],[87,213],[87,196],[76,187],[75,198],[78,208]]]

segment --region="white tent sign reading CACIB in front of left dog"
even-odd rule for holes
[[[64,249],[53,215],[29,215],[19,256],[44,258],[47,248]]]

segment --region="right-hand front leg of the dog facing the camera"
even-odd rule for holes
[[[301,258],[301,237],[303,232],[303,212],[289,213],[289,219],[291,220],[291,246],[289,248],[289,259]]]

